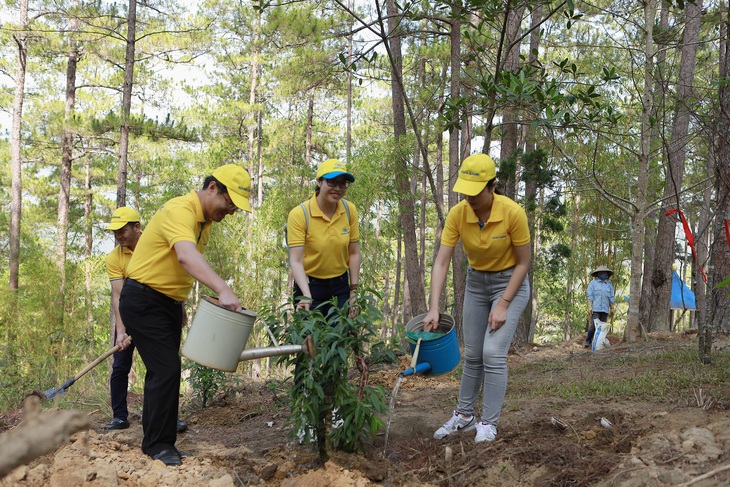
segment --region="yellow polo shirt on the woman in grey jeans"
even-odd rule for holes
[[[530,243],[525,210],[507,198],[495,194],[492,212],[484,228],[466,200],[446,216],[441,245],[455,247],[461,238],[469,265],[480,271],[501,271],[517,264],[513,247]]]

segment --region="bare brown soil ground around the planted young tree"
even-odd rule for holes
[[[530,380],[546,380],[545,374],[552,381],[566,374],[567,380],[576,370],[551,365],[536,372],[519,367],[527,362],[564,360],[585,364],[581,373],[601,374],[601,365],[621,354],[651,354],[665,347],[696,349],[696,339],[665,337],[599,352],[586,351],[582,339],[532,346],[510,354],[511,380],[525,370],[533,371]],[[716,357],[728,360],[726,353]],[[408,357],[402,362],[371,371],[370,382],[390,391]],[[621,377],[634,372],[611,373]],[[178,436],[177,447],[191,456],[180,467],[165,467],[142,454],[138,408],[131,428],[109,433],[101,430],[108,418],[92,413],[90,429],[16,468],[0,486],[730,485],[730,397],[705,398],[705,407],[697,397],[689,397],[691,392],[682,400],[660,404],[594,404],[555,397],[525,399],[508,388],[496,441],[475,444],[473,432],[435,440],[433,432],[449,418],[458,390],[456,374],[405,378],[390,417],[387,444],[381,432],[364,451],[332,452],[324,465],[311,446],[300,446],[290,437],[285,392],[265,384],[247,384],[235,395],[186,416],[190,427]],[[132,399],[139,403],[139,398]],[[0,425],[12,428],[21,416],[17,411],[0,414]],[[601,418],[611,426],[602,426]]]

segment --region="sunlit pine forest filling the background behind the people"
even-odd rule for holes
[[[252,174],[254,211],[216,225],[206,257],[249,309],[288,299],[286,216],[337,157],[361,287],[396,343],[426,309],[458,164],[487,152],[533,236],[516,345],[583,333],[601,264],[625,340],[676,330],[673,264],[699,358],[730,331],[725,1],[7,0],[0,20],[0,407],[108,348],[112,211],[144,228],[226,163]],[[457,251],[442,302],[457,323],[465,265]]]

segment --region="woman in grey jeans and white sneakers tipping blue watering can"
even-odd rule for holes
[[[454,191],[466,195],[446,217],[441,246],[431,271],[429,311],[424,330],[438,327],[439,298],[454,247],[461,239],[469,259],[464,295],[464,371],[459,403],[436,432],[440,439],[476,427],[475,441],[494,441],[507,390],[507,353],[530,300],[530,230],[525,210],[495,193],[497,171],[486,154],[467,157]],[[481,418],[475,416],[483,391]]]

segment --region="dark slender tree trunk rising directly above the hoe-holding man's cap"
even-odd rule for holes
[[[119,168],[117,173],[117,207],[127,204],[127,155],[129,151],[129,114],[134,83],[134,49],[137,37],[137,0],[129,0],[127,12],[127,51],[124,58],[122,88],[122,126],[119,130]]]

